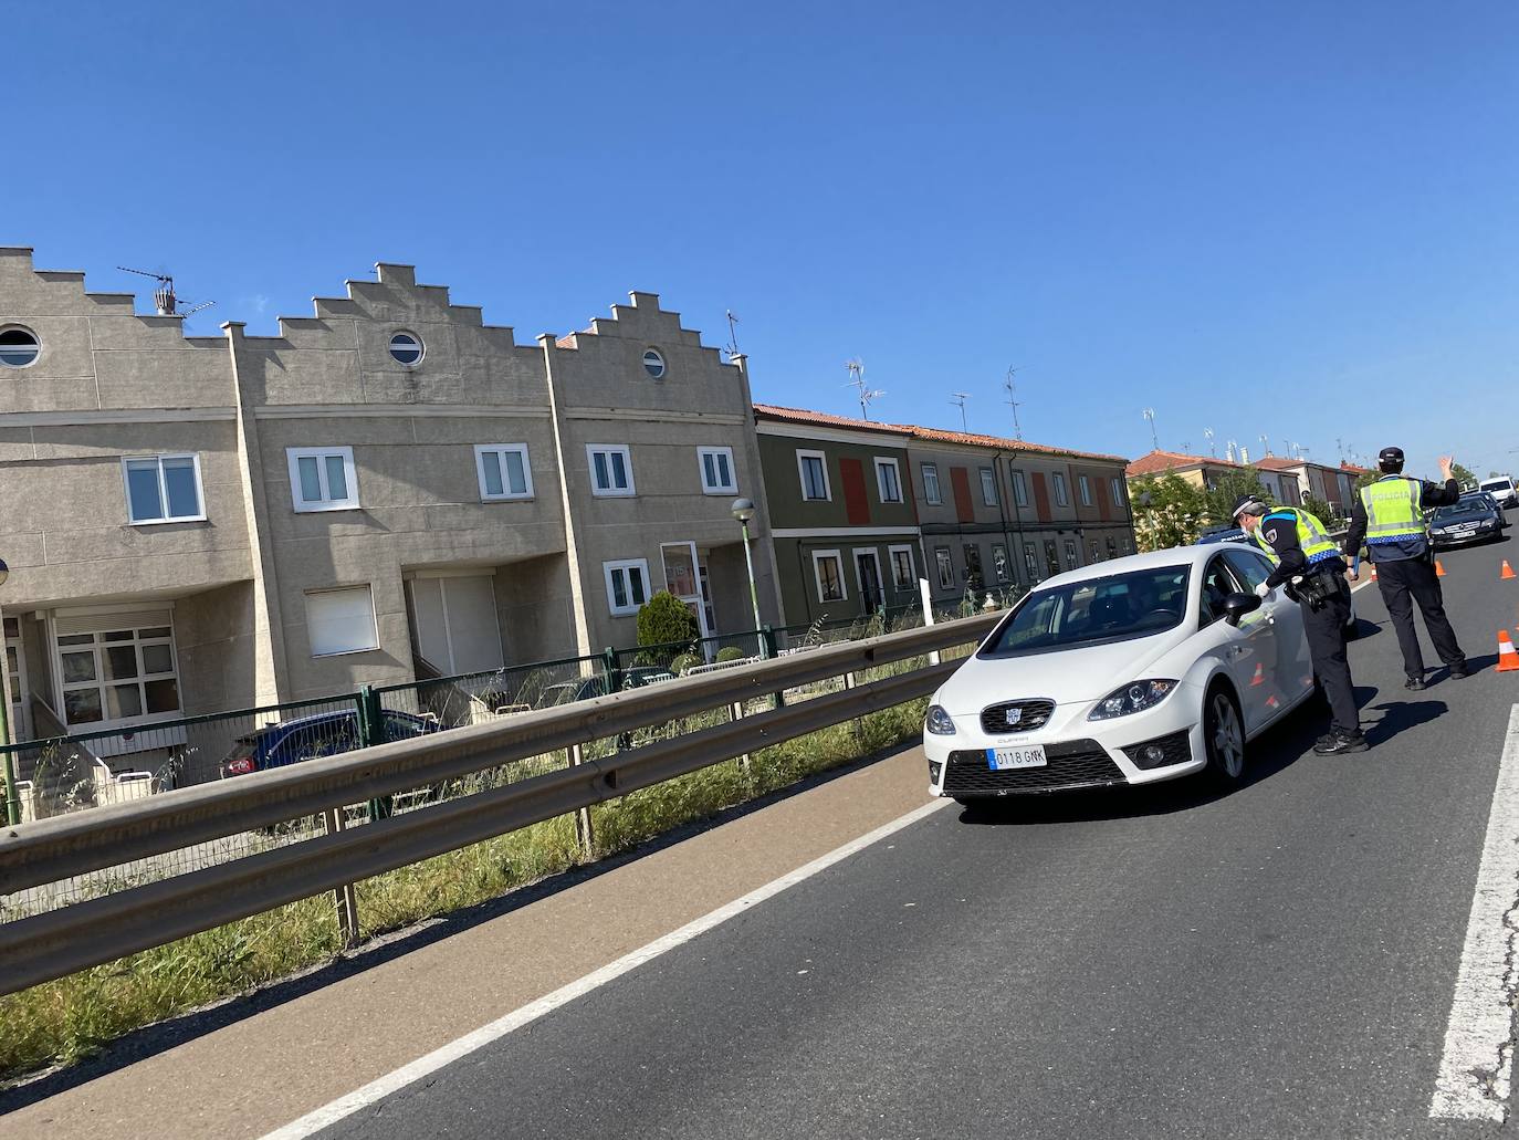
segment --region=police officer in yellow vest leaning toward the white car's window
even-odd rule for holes
[[[1314,675],[1329,698],[1329,733],[1314,745],[1318,755],[1364,752],[1361,714],[1355,707],[1355,682],[1346,660],[1344,628],[1350,622],[1350,587],[1344,581],[1340,547],[1325,524],[1296,506],[1268,508],[1258,496],[1240,496],[1235,520],[1276,564],[1256,587],[1265,597],[1285,587],[1303,611],[1308,652]]]

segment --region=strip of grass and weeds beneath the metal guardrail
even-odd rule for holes
[[[595,857],[867,757],[921,731],[927,701],[870,713],[723,762],[591,810]],[[573,816],[488,839],[358,885],[363,935],[497,898],[583,863]],[[114,1038],[331,959],[340,950],[331,895],[0,997],[0,1081],[71,1064]]]

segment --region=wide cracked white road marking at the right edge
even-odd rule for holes
[[[1429,1116],[1496,1120],[1508,1116],[1513,1075],[1514,967],[1511,912],[1519,901],[1519,705],[1498,765],[1493,809],[1487,816],[1476,895],[1466,923],[1466,947],[1455,976],[1455,1000],[1445,1031],[1440,1076]]]

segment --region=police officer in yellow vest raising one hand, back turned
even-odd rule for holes
[[[1455,643],[1455,631],[1445,616],[1445,599],[1423,521],[1425,511],[1448,506],[1461,497],[1461,488],[1451,474],[1451,456],[1440,459],[1443,486],[1405,476],[1401,447],[1384,447],[1376,456],[1376,467],[1382,477],[1361,488],[1361,497],[1350,511],[1344,553],[1355,555],[1361,541],[1366,541],[1372,565],[1376,567],[1376,585],[1387,602],[1393,629],[1397,631],[1397,648],[1404,651],[1404,675],[1408,678],[1404,684],[1413,690],[1425,687],[1413,602],[1419,603],[1429,640],[1440,660],[1449,666],[1451,676],[1466,676],[1466,654]]]

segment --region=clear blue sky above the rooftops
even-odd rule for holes
[[[521,340],[732,309],[776,403],[1006,433],[1016,363],[1030,439],[1519,468],[1510,0],[337,8],[11,12],[0,243],[202,333],[410,261]]]

